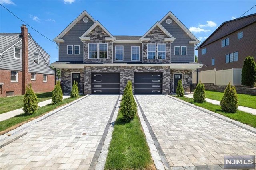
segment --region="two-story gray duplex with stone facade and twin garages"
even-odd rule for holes
[[[135,94],[170,94],[182,79],[189,91],[198,39],[168,12],[142,36],[113,36],[83,11],[55,39],[64,92],[74,80],[84,94],[122,94],[128,80]],[[172,87],[172,89],[170,89]]]

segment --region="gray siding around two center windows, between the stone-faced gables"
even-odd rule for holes
[[[124,46],[124,61],[115,61],[115,46]],[[140,46],[140,61],[132,61],[132,46]],[[113,62],[142,62],[142,43],[113,43]]]

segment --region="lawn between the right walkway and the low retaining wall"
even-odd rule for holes
[[[210,90],[205,90],[206,98],[218,100],[222,99],[222,92],[215,92]],[[256,109],[256,96],[252,96],[250,94],[237,94],[238,95],[238,105],[244,107],[250,107]]]

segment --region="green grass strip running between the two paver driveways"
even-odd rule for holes
[[[154,162],[138,115],[129,123],[119,111],[106,159],[107,170],[153,170]]]

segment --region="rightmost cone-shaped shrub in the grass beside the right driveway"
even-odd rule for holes
[[[238,95],[236,94],[236,88],[234,86],[230,86],[230,82],[228,83],[223,97],[220,100],[220,106],[222,111],[236,113],[236,109],[238,108]]]

